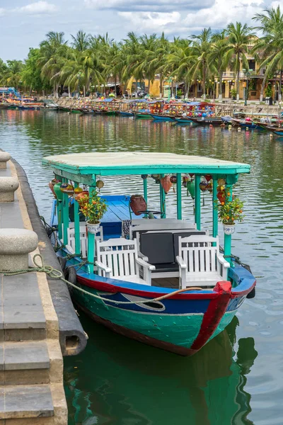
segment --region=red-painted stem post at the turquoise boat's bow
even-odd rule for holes
[[[197,335],[197,338],[191,347],[196,351],[200,350],[200,348],[202,348],[202,346],[204,346],[204,344],[206,344],[209,338],[214,334],[216,327],[219,325],[221,318],[226,312],[226,308],[231,299],[231,282],[228,280],[218,282],[214,291],[218,293],[219,297],[216,300],[209,302],[207,311],[204,313],[200,333]]]

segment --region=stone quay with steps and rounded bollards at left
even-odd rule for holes
[[[5,189],[14,185],[11,178],[18,181],[16,191],[12,189],[14,200],[11,193],[7,198]],[[46,264],[59,269],[25,173],[8,160],[6,169],[0,166],[1,271],[8,269],[11,256],[11,266],[16,267],[19,254],[12,252],[13,241],[25,261],[23,253],[32,234],[36,244],[26,254],[28,265],[34,266],[33,256],[41,254]],[[67,286],[39,272],[0,274],[0,284],[0,425],[67,425],[63,355],[74,355],[86,346]]]

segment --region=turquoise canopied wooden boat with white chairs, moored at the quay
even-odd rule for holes
[[[214,208],[217,179],[226,181],[231,199],[233,184],[250,171],[248,164],[160,152],[63,154],[42,163],[52,167],[57,180],[90,190],[96,188],[97,175],[144,177],[141,210],[132,204],[141,196],[101,193],[108,210],[96,235],[79,221],[76,200],[71,201],[70,221],[68,193],[55,191],[51,225],[57,225],[62,244],[57,255],[68,267],[74,302],[96,322],[144,344],[191,356],[225,329],[247,296],[254,296],[254,276],[231,256],[231,234],[225,234],[224,256],[219,251]],[[156,184],[145,176],[158,173],[175,176],[178,219],[166,217],[161,183],[162,218],[143,218],[150,212],[145,202],[149,183]],[[182,174],[195,176],[195,223],[182,220]],[[215,184],[213,237],[201,227],[200,181],[207,174]]]

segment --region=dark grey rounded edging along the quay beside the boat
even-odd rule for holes
[[[28,177],[25,174],[23,167],[18,162],[11,158],[11,162],[15,166],[20,188],[25,201],[30,222],[33,231],[37,234],[39,239],[39,250],[45,264],[57,268],[61,271],[57,256],[54,252],[49,237],[42,224],[40,215],[37,210],[35,198],[31,191]],[[86,347],[87,336],[83,331],[79,317],[74,310],[74,305],[71,302],[71,297],[67,285],[62,280],[52,279],[47,277],[47,282],[50,288],[50,295],[54,305],[54,310],[58,317],[59,323],[59,342],[62,349],[63,356],[75,356]]]

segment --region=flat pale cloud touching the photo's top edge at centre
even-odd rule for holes
[[[196,10],[200,7],[211,7],[215,0],[202,0],[200,6],[195,0],[84,0],[86,7],[117,11],[172,12],[178,10]]]

